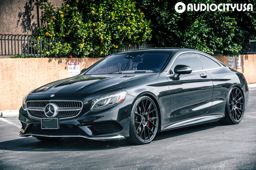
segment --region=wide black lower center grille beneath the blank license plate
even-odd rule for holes
[[[82,129],[72,124],[60,124],[60,129],[41,129],[40,123],[32,123],[24,134],[40,135],[79,135],[85,134]]]

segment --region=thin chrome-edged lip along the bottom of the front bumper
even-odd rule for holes
[[[83,135],[39,135],[39,134],[18,134],[19,136],[44,136],[44,137],[83,137],[86,139],[92,139],[92,140],[114,140],[114,139],[124,139],[124,136],[106,136],[106,137],[89,137],[89,136],[83,136]]]

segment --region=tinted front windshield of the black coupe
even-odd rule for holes
[[[89,69],[85,75],[121,74],[121,73],[155,73],[162,69],[169,53],[130,52],[107,57]]]

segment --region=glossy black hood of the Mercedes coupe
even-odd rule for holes
[[[159,73],[78,75],[43,85],[30,94],[91,94],[154,80]]]

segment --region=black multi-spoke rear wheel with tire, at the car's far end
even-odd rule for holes
[[[244,115],[244,95],[240,88],[234,86],[228,93],[225,117],[219,120],[221,124],[238,124]]]

